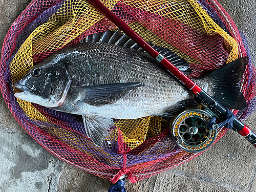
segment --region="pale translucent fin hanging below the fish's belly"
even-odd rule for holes
[[[95,145],[101,146],[104,136],[113,126],[113,120],[97,114],[83,115],[82,119],[87,137],[91,138]]]

